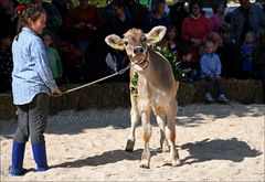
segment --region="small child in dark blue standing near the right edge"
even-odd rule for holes
[[[242,76],[243,78],[250,78],[252,75],[252,52],[256,47],[255,33],[247,32],[245,34],[244,44],[241,45],[241,57],[243,61]]]

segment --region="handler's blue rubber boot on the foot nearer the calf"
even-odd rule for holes
[[[49,169],[46,162],[46,147],[45,142],[32,144],[33,156],[36,163],[36,171],[46,171]]]

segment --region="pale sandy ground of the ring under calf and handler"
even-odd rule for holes
[[[24,176],[9,175],[15,120],[1,120],[0,181],[264,181],[264,105],[190,105],[180,107],[177,148],[182,165],[172,168],[159,151],[159,128],[152,119],[151,165],[139,168],[144,147],[137,128],[134,152],[124,151],[129,109],[63,111],[49,117],[51,169],[34,172],[26,144]]]

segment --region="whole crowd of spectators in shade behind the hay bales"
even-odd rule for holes
[[[261,51],[265,42],[264,6],[240,0],[240,7],[225,14],[224,4],[213,3],[213,14],[206,18],[200,0],[191,0],[188,7],[179,0],[169,8],[165,0],[155,0],[150,10],[138,0],[112,0],[102,9],[87,0],[78,2],[75,7],[71,0],[31,0],[47,14],[41,38],[59,85],[87,83],[110,74],[105,63],[107,54],[115,57],[115,71],[129,63],[125,52],[105,44],[106,35],[121,36],[131,28],[148,32],[165,25],[167,35],[157,46],[167,47],[181,62],[183,82],[206,81],[206,101],[213,100],[210,89],[213,84],[220,88],[219,100],[229,101],[221,88],[221,77],[262,79],[265,93],[265,57]],[[0,92],[11,88],[10,47],[22,7],[15,0],[0,0]],[[128,74],[114,82],[129,82]]]

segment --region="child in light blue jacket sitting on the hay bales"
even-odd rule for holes
[[[229,103],[225,97],[221,79],[221,62],[219,56],[213,52],[214,44],[212,41],[208,40],[204,45],[205,53],[201,57],[201,76],[206,81],[205,88],[205,100],[208,103],[213,103],[212,88],[213,85],[218,86],[220,103]]]

